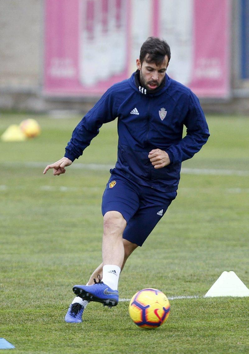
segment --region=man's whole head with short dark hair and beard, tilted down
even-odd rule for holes
[[[166,41],[149,37],[141,46],[137,59],[140,82],[147,90],[161,85],[170,60],[170,48]]]

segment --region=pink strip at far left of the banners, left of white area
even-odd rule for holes
[[[79,87],[79,1],[46,1],[45,6],[45,90],[74,91]]]

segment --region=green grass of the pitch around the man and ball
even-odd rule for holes
[[[2,114],[0,134],[25,115]],[[47,163],[64,154],[80,117],[33,117],[42,134],[3,143],[0,169],[0,329],[15,353],[249,353],[249,298],[203,298],[224,270],[249,287],[248,176],[183,173],[178,196],[120,277],[121,298],[156,287],[171,300],[167,322],[141,330],[116,308],[90,304],[81,324],[66,324],[74,284],[85,283],[101,262],[101,198],[114,165],[116,122],[105,125],[83,157],[63,176]],[[210,116],[211,137],[183,167],[249,171],[247,118]],[[39,162],[33,165],[28,162]],[[8,352],[6,350],[6,352]]]

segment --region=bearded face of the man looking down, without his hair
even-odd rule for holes
[[[143,87],[147,90],[155,90],[158,86],[161,85],[166,69],[169,65],[169,59],[166,55],[164,57],[164,61],[160,65],[156,65],[155,63],[147,63],[146,59],[149,54],[146,55],[143,63],[137,59],[137,68],[140,70],[140,82]]]

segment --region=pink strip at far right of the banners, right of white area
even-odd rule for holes
[[[226,97],[230,91],[229,1],[195,0],[194,14],[189,86],[199,97]]]

